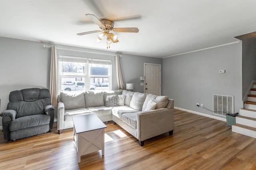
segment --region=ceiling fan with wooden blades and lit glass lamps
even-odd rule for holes
[[[97,41],[100,43],[101,40],[106,37],[107,39],[107,49],[110,48],[110,43],[117,43],[118,41],[118,37],[117,35],[115,35],[114,33],[110,32],[110,31],[114,31],[114,32],[126,32],[126,33],[138,33],[139,29],[136,27],[128,27],[128,28],[114,28],[114,22],[111,20],[107,20],[107,19],[102,19],[99,20],[95,15],[93,14],[86,14],[86,16],[88,18],[90,18],[90,20],[92,20],[94,23],[96,23],[97,25],[100,26],[101,30],[96,30],[96,31],[87,31],[87,32],[83,32],[83,33],[77,33],[77,35],[86,35],[86,34],[90,34],[90,33],[98,33],[98,38]]]

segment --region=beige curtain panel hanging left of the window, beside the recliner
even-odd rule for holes
[[[52,60],[51,60],[51,73],[50,73],[50,95],[52,106],[54,107],[54,115],[57,113],[58,105],[58,92],[57,92],[57,51],[56,47],[52,45]]]

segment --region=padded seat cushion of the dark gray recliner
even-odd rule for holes
[[[46,125],[50,123],[50,115],[31,115],[24,116],[14,121],[11,121],[9,125],[10,131],[16,131],[19,129],[26,129],[28,127],[35,127],[40,125]]]

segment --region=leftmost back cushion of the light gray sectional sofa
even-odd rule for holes
[[[85,107],[84,92],[60,92],[60,101],[65,109]]]

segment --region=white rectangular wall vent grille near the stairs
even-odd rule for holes
[[[226,116],[234,113],[234,96],[213,95],[213,114]]]

